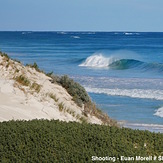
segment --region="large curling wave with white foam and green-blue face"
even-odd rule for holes
[[[146,71],[156,70],[158,72],[163,72],[163,64],[161,63],[146,63],[135,59],[104,57],[102,54],[89,56],[79,66],[117,70],[139,68]]]

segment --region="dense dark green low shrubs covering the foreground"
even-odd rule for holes
[[[58,120],[1,122],[0,140],[0,162],[91,162],[92,156],[163,155],[161,133]]]

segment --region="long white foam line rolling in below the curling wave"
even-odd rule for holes
[[[112,96],[127,96],[132,98],[145,98],[163,100],[163,90],[144,89],[107,89],[85,87],[87,92],[107,94]]]

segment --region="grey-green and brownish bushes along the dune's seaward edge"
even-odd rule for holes
[[[87,117],[88,115],[93,115],[100,119],[103,122],[103,124],[107,124],[110,126],[118,126],[115,120],[109,118],[107,114],[105,114],[99,108],[97,108],[95,103],[91,101],[84,87],[82,87],[79,83],[75,82],[67,75],[56,76],[52,73],[49,73],[48,76],[51,77],[52,83],[57,83],[64,87],[67,90],[67,92],[72,96],[73,101],[79,107],[83,107],[84,116]]]

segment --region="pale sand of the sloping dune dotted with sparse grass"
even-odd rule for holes
[[[7,64],[4,57],[0,56],[1,122],[31,119],[59,119],[68,122],[79,121],[79,117],[83,117],[82,108],[74,103],[67,91],[60,85],[51,83],[50,78],[44,73],[12,60],[9,61],[9,66]],[[21,74],[24,74],[31,84],[35,82],[41,85],[40,92],[37,93],[29,86],[22,86],[15,82],[13,78]],[[58,101],[49,97],[49,93],[54,94]],[[69,109],[69,111],[59,111],[59,103],[63,103],[64,110]],[[101,120],[90,115],[87,120],[90,123],[102,123]]]

